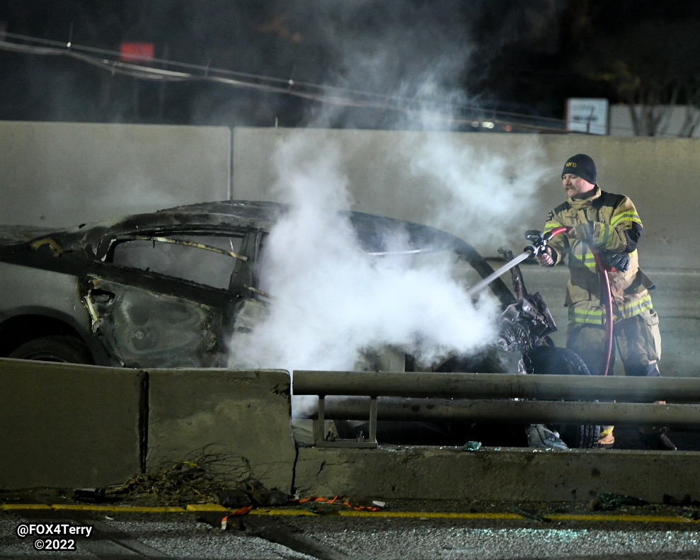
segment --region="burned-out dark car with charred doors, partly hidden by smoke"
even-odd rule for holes
[[[0,229],[0,356],[118,367],[230,365],[232,333],[253,328],[255,310],[272,298],[261,256],[287,211],[273,202],[227,200],[59,231]],[[367,253],[386,256],[384,232],[399,228],[413,252],[449,250],[476,278],[493,273],[471,245],[447,232],[344,215]],[[503,310],[493,345],[430,370],[546,372],[554,359],[561,372],[561,352],[542,350],[553,348],[548,335],[556,329],[544,301],[527,294],[519,268],[512,279],[515,294],[501,278],[488,285]],[[425,370],[411,356],[397,364]],[[386,370],[372,360],[363,367]]]

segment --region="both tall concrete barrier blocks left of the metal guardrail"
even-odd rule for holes
[[[0,359],[0,488],[120,484],[216,455],[232,485],[291,492],[289,373]]]

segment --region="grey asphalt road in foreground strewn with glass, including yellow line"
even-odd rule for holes
[[[221,528],[222,512],[0,510],[1,558],[188,559],[691,559],[700,522],[687,508],[589,511],[581,505],[389,505],[253,510]],[[38,551],[21,524],[92,527],[71,551]],[[66,540],[41,537],[43,542]],[[46,546],[45,544],[43,546]]]

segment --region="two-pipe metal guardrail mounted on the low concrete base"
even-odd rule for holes
[[[378,419],[700,428],[694,377],[295,370],[292,386],[294,394],[319,396],[316,445],[376,446]],[[602,399],[616,402],[596,402]],[[368,416],[368,441],[329,442],[323,434],[326,418]]]

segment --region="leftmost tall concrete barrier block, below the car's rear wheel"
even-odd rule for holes
[[[0,488],[117,484],[142,469],[145,373],[0,360]]]

